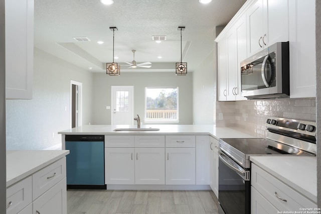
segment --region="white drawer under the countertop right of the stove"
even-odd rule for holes
[[[316,207],[311,200],[257,165],[252,164],[251,167],[251,185],[278,210],[300,211],[300,208]]]

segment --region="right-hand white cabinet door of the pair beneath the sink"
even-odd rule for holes
[[[165,184],[165,148],[135,148],[135,184]]]

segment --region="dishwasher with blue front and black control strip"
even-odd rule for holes
[[[67,188],[106,189],[104,136],[66,135]]]

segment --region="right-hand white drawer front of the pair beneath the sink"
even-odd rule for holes
[[[165,147],[165,136],[135,136],[135,147]]]

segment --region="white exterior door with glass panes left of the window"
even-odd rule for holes
[[[134,86],[111,86],[111,125],[133,125]]]

